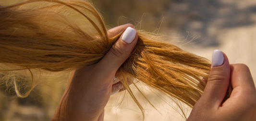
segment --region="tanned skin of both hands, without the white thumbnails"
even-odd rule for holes
[[[134,28],[132,24],[115,27],[109,30],[110,37],[127,27]],[[97,64],[73,72],[51,121],[104,120],[111,88],[120,84],[113,84],[113,78],[134,49],[138,34],[130,44],[121,38]],[[256,88],[249,68],[244,64],[230,65],[227,56],[223,56],[223,64],[211,68],[205,91],[187,121],[256,121]],[[229,83],[232,94],[222,104]]]

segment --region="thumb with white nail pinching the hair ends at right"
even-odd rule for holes
[[[220,50],[215,50],[212,54],[212,67],[207,85],[200,101],[219,107],[229,87],[230,75],[228,57]]]

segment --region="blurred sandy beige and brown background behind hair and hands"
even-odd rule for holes
[[[1,5],[21,0],[0,0]],[[256,78],[256,0],[91,0],[109,28],[132,23],[137,30],[159,33],[169,43],[211,59],[213,50],[228,55],[230,63],[244,63]],[[15,98],[0,88],[0,121],[49,121],[67,78],[40,84],[27,98]],[[60,81],[61,80],[61,81]],[[156,109],[141,99],[145,121],[185,121],[172,102],[144,88]],[[110,97],[105,121],[142,121],[142,113],[124,92]],[[140,95],[135,92],[135,95]],[[172,106],[170,106],[172,105]],[[174,107],[174,108],[172,108]],[[187,109],[187,116],[190,113]]]

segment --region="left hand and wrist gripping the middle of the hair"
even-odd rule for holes
[[[113,37],[124,30],[98,63],[73,72],[51,121],[103,121],[111,88],[120,84],[116,81],[113,84],[116,71],[130,56],[138,40],[138,33],[132,24],[115,27],[108,33]]]

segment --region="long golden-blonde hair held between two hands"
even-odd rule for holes
[[[35,70],[72,71],[100,61],[123,33],[110,38],[107,31],[88,1],[27,0],[0,6],[0,81],[14,85],[17,95],[26,97],[35,86]],[[138,35],[132,54],[118,69],[138,107],[143,112],[129,77],[192,108],[203,93],[211,62],[163,43],[152,33],[138,31]],[[32,84],[23,96],[17,86],[22,81]]]

